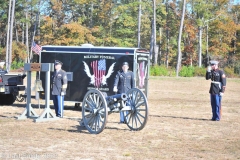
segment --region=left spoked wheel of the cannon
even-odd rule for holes
[[[103,94],[95,89],[89,90],[82,104],[84,126],[90,133],[98,134],[105,128],[107,116],[107,102]]]

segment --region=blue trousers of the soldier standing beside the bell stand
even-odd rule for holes
[[[57,117],[63,117],[64,96],[53,95],[53,104]]]

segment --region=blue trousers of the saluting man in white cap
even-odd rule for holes
[[[212,120],[219,121],[221,118],[221,99],[222,97],[218,94],[210,94],[211,106],[212,106]]]

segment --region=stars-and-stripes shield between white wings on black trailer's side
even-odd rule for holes
[[[94,86],[99,88],[102,82],[102,76],[106,74],[106,60],[96,60],[91,62],[91,67],[93,68],[93,74],[95,77],[95,84]]]

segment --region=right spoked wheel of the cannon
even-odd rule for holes
[[[145,94],[137,89],[132,88],[127,92],[129,100],[126,105],[131,106],[130,111],[125,113],[125,122],[131,130],[141,130],[145,127],[148,120],[148,102]]]

